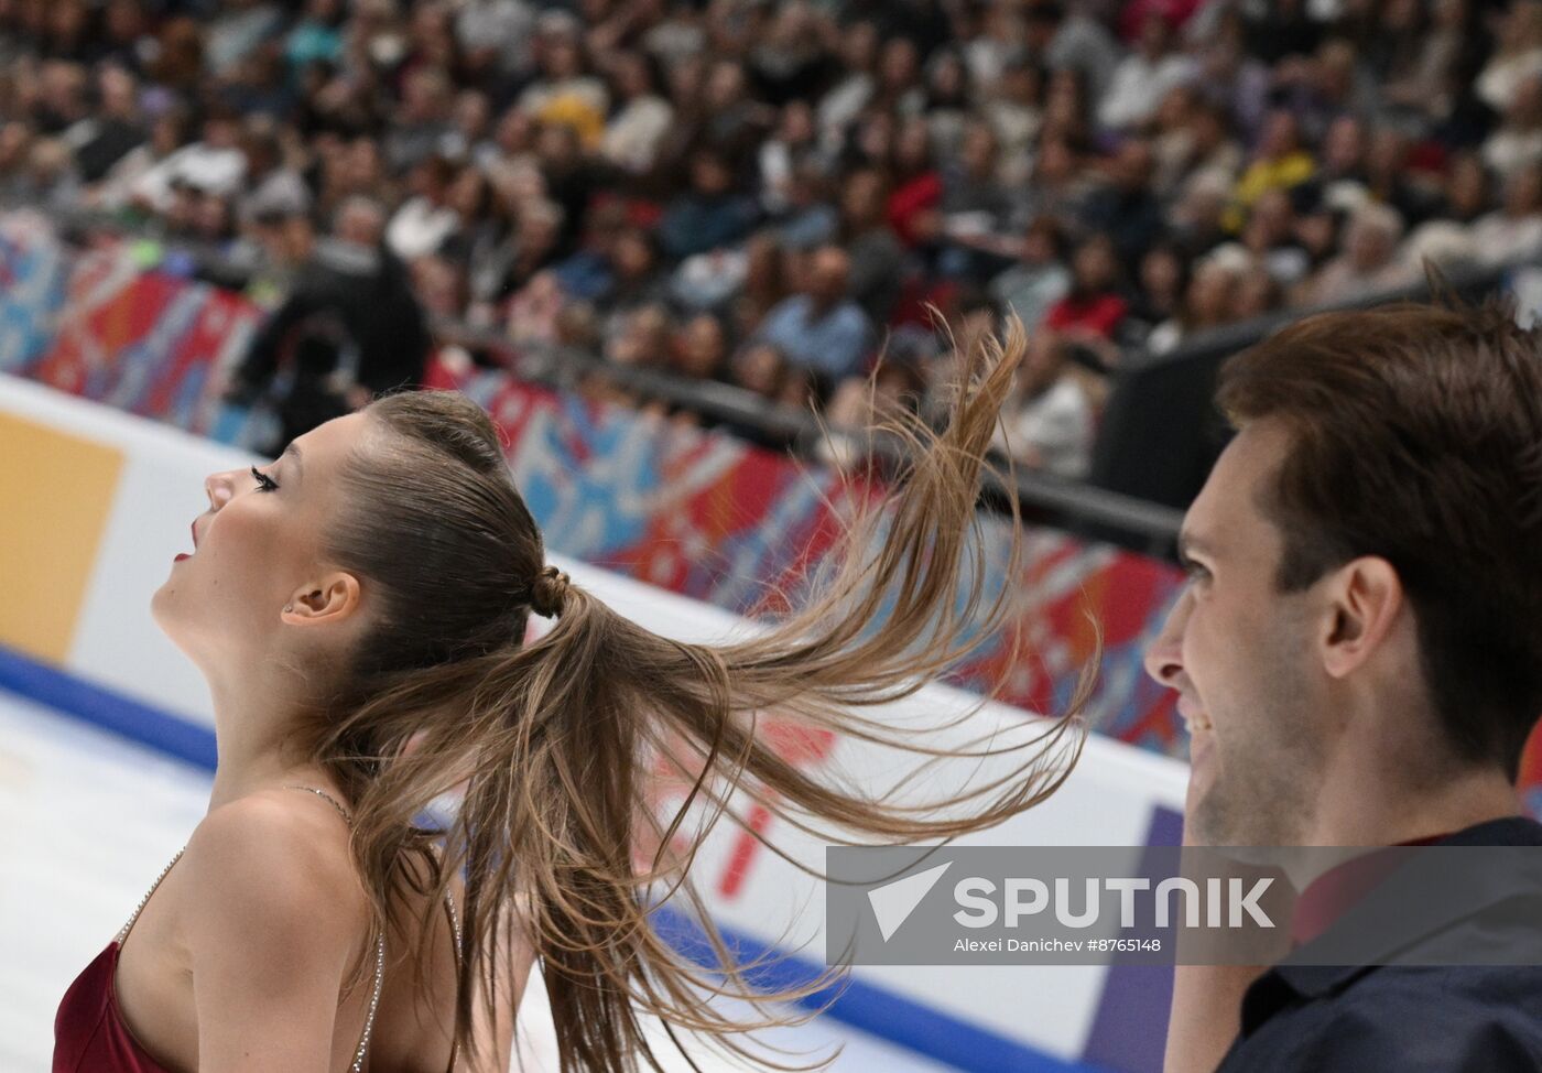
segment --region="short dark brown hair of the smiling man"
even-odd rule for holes
[[[1514,780],[1542,714],[1542,333],[1433,282],[1439,304],[1291,324],[1223,365],[1217,402],[1292,430],[1260,504],[1284,535],[1277,587],[1388,560],[1454,752]]]

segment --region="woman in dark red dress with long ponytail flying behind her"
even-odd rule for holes
[[[968,555],[1022,325],[1005,339],[962,347],[941,433],[899,427],[914,461],[890,515],[850,524],[822,594],[725,644],[651,634],[546,566],[493,424],[456,393],[379,398],[210,476],[196,552],[153,603],[213,694],[210,811],[66,993],[56,1073],[507,1070],[537,957],[564,1070],[657,1068],[643,1013],[754,1054],[734,1039],[754,1025],[706,1001],[757,999],[726,950],[725,977],[648,920],[668,880],[720,942],[685,882],[692,805],[715,820],[737,788],[843,840],[947,837],[1032,808],[1079,755],[1096,660],[1072,718],[1012,746],[939,749],[856,714],[1005,618]],[[526,644],[532,612],[557,621]],[[1007,752],[1012,771],[882,803],[782,760],[757,735],[769,711],[930,762]],[[660,760],[692,783],[668,823],[648,805]],[[453,820],[427,823],[452,792]]]

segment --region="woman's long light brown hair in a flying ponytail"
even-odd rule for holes
[[[1004,339],[961,342],[941,432],[904,413],[890,421],[907,461],[887,495],[851,496],[865,506],[842,524],[813,595],[768,629],[720,644],[652,634],[547,567],[498,432],[464,396],[404,392],[365,409],[370,435],[344,470],[325,541],[333,561],[365,578],[378,624],[318,694],[313,755],[353,803],[352,848],[373,928],[399,925],[410,888],[430,894],[427,936],[427,914],[452,876],[464,876],[463,1050],[473,1013],[512,1002],[486,980],[512,956],[510,927],[520,927],[543,967],[564,1070],[658,1068],[645,1013],[765,1061],[742,1033],[802,1018],[762,1004],[830,979],[759,991],[685,876],[717,819],[743,825],[734,792],[830,842],[905,843],[1001,823],[1064,782],[1086,737],[1096,655],[1067,712],[1013,723],[1032,731],[1016,743],[1002,745],[998,720],[970,722],[979,705],[928,728],[979,731],[962,746],[928,745],[914,726],[864,714],[914,694],[993,634],[1013,651],[1019,643],[1002,631],[1021,577],[1010,472],[1007,584],[996,592],[976,515],[985,450],[1025,348],[1021,322]],[[532,606],[557,621],[526,643]],[[941,800],[885,800],[779,755],[768,714],[902,751],[921,760],[911,774],[956,757],[1010,769]],[[668,816],[651,797],[660,765],[691,788]],[[426,823],[455,791],[453,820]],[[660,888],[697,917],[719,967],[703,968],[651,927]],[[520,906],[517,925],[510,905]],[[709,994],[748,999],[763,1016],[725,1014]]]

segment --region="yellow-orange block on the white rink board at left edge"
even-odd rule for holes
[[[0,413],[0,644],[63,663],[123,453]]]

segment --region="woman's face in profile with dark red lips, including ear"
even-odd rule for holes
[[[270,658],[291,643],[291,626],[336,626],[350,578],[322,561],[321,535],[336,498],[336,473],[369,432],[364,413],[335,418],[265,466],[210,473],[208,509],[190,518],[196,547],[177,555],[151,598],[156,624],[208,675],[230,660]],[[358,603],[358,581],[352,581]],[[284,606],[291,610],[285,612]],[[328,617],[328,610],[332,617]],[[338,637],[327,631],[327,640]]]

